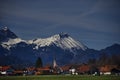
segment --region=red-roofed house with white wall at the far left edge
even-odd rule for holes
[[[13,75],[14,69],[11,66],[0,66],[1,75]]]

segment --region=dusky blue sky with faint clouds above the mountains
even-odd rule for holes
[[[120,0],[0,0],[0,27],[22,39],[68,33],[89,48],[120,44]]]

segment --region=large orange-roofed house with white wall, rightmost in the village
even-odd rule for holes
[[[99,68],[100,75],[110,75],[111,70],[116,68],[116,65],[104,65]]]

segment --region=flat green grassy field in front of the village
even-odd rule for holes
[[[120,80],[120,76],[80,76],[80,75],[0,76],[0,80]]]

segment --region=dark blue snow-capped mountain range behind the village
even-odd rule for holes
[[[99,46],[99,45],[96,45]],[[120,45],[113,44],[102,50],[90,49],[67,33],[60,33],[48,38],[23,40],[8,27],[0,29],[0,65],[32,66],[38,57],[44,65],[80,64],[89,59],[98,59],[104,53],[120,54]]]

